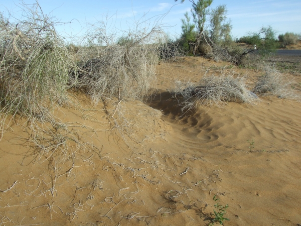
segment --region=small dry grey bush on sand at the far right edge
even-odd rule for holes
[[[294,81],[287,79],[278,72],[272,64],[263,64],[264,74],[259,77],[253,92],[260,94],[270,93],[280,98],[300,101],[300,94],[294,90]]]

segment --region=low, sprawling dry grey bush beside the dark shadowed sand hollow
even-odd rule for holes
[[[197,105],[223,105],[228,101],[254,104],[257,96],[246,86],[245,77],[234,77],[232,70],[220,70],[218,76],[205,76],[198,83],[176,81],[173,91],[175,97],[183,97],[179,102],[182,111],[193,109]]]

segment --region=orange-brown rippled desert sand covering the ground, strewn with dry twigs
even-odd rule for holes
[[[54,112],[69,130],[66,153],[41,153],[25,119],[8,122],[0,141],[0,225],[208,225],[214,195],[229,205],[224,225],[301,224],[301,103],[266,95],[255,105],[183,114],[166,89],[177,79],[198,81],[212,65],[227,63],[161,62],[152,99],[120,103],[129,136],[110,127],[103,105],[79,94],[80,107]],[[234,70],[250,86],[262,73]],[[286,76],[301,82],[298,73]]]

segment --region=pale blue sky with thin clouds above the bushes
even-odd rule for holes
[[[32,0],[24,0],[25,3],[34,3]],[[190,10],[191,3],[186,0],[183,4],[174,0],[40,0],[45,13],[51,13],[61,22],[72,21],[72,33],[80,32],[86,23],[95,23],[105,19],[108,15],[110,26],[126,30],[128,24],[138,20],[144,14],[146,18],[168,13],[162,18],[165,31],[171,36],[180,36],[181,18]],[[6,14],[20,11],[16,6],[17,0],[0,0],[0,11]],[[301,33],[301,1],[300,0],[214,0],[212,8],[218,5],[226,5],[228,19],[232,22],[233,38],[240,38],[248,32],[258,31],[262,26],[271,25],[278,33]],[[67,27],[60,27],[59,30]]]

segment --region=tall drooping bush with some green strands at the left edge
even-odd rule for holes
[[[21,5],[23,16],[11,22],[0,17],[0,128],[8,115],[49,121],[49,110],[66,97],[73,64],[55,30],[56,19],[38,3]]]

